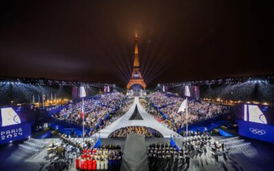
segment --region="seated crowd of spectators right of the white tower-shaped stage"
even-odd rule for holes
[[[177,131],[177,129],[186,125],[186,112],[177,113],[183,101],[184,98],[179,96],[168,96],[161,92],[155,92],[149,94],[147,101],[142,103],[142,105],[145,106],[149,114],[152,114],[156,120],[169,127],[169,129]],[[228,111],[229,107],[225,105],[188,100],[188,124],[207,120],[220,114],[226,114]]]

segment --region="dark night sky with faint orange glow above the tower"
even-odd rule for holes
[[[273,73],[268,1],[8,1],[0,75],[151,84]]]

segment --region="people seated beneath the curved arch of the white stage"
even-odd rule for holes
[[[145,135],[145,137],[162,137],[162,135],[154,129],[142,126],[124,127],[114,131],[109,137],[127,137],[128,134]]]

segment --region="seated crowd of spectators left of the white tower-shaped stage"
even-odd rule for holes
[[[110,94],[103,94],[97,98],[90,98],[84,100],[84,123],[87,128],[95,128],[99,122],[103,122],[105,116],[110,114],[115,109],[123,106],[126,96],[114,92]],[[82,125],[82,101],[70,104],[60,111],[60,113],[53,115],[54,118],[71,122],[73,124]]]

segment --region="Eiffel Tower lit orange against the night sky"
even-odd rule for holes
[[[140,72],[137,34],[135,34],[135,42],[134,42],[134,64],[133,64],[133,70],[132,70],[132,77],[129,79],[129,83],[127,83],[127,90],[129,90],[129,88],[132,88],[132,86],[134,85],[140,85],[142,86],[143,89],[147,87],[144,79],[142,79],[142,75]]]

